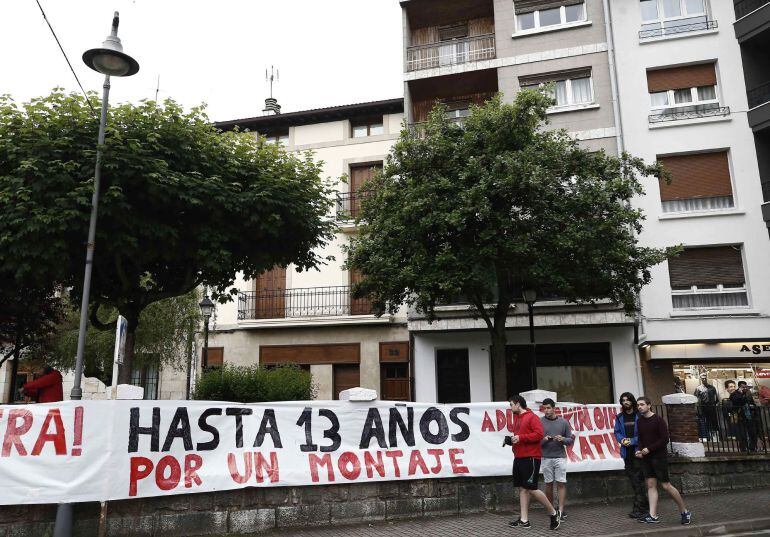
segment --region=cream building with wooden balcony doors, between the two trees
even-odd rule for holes
[[[312,373],[319,399],[336,399],[341,390],[362,386],[384,399],[409,400],[406,314],[374,316],[367,300],[351,297],[357,275],[342,268],[342,245],[356,233],[359,190],[400,134],[403,100],[281,114],[268,99],[266,112],[217,126],[248,129],[266,143],[313,151],[323,161],[323,174],[338,181],[330,217],[337,219],[339,232],[321,252],[334,260],[317,271],[276,267],[255,280],[239,279],[238,299],[217,305],[208,364],[296,363]],[[343,176],[349,180],[340,180]]]

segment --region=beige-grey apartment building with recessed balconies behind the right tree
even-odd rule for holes
[[[635,3],[635,2],[632,2]],[[616,154],[612,56],[602,0],[403,0],[405,114],[424,121],[436,102],[462,122],[471,104],[495,93],[512,101],[523,87],[555,84],[553,128],[591,150]],[[540,298],[516,304],[506,362],[491,363],[484,322],[467,305],[438,308],[428,322],[410,312],[418,401],[503,400],[538,387],[560,400],[611,402],[642,379],[634,318],[616,305]]]

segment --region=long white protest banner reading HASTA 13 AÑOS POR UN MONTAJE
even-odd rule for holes
[[[562,406],[569,471],[623,467],[616,405]],[[0,504],[510,475],[506,403],[67,401],[0,406]]]

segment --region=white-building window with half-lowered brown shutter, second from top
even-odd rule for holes
[[[729,114],[717,93],[713,63],[647,71],[650,122]]]

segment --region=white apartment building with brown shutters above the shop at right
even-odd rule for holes
[[[745,12],[748,4],[759,10]],[[762,10],[767,27],[770,6],[723,0],[609,5],[620,145],[660,160],[672,175],[670,183],[648,183],[636,200],[647,215],[640,241],[684,246],[681,255],[654,267],[641,294],[645,391],[653,397],[672,392],[676,375],[692,393],[704,372],[723,396],[728,378],[767,382],[770,245],[760,165],[768,158],[770,97],[759,84],[768,80],[769,49],[761,42],[767,35],[748,28],[762,26],[753,18]]]

